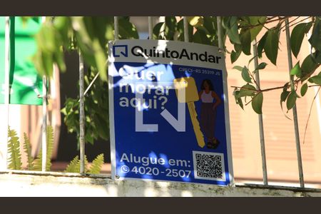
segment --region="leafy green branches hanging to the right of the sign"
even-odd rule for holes
[[[300,17],[297,17],[300,18]],[[257,20],[256,24],[255,21],[250,20]],[[274,26],[270,26],[270,29],[267,29],[265,34],[260,38],[258,41],[258,57],[262,58],[263,54],[267,56],[267,58],[275,65],[277,65],[277,54],[279,49],[279,39],[280,39],[280,31],[281,29],[287,28],[285,26],[285,19],[287,17],[264,17],[264,16],[256,16],[255,18],[253,16],[250,17],[239,17],[238,19],[238,30],[240,31],[240,43],[238,43],[238,40],[235,39],[235,35],[228,34],[228,37],[230,38],[230,41],[232,44],[234,44],[235,50],[231,52],[231,61],[232,63],[235,62],[239,56],[240,51],[243,51],[244,54],[250,54],[250,42],[255,39],[256,36],[258,36],[258,33],[262,30],[258,29],[258,26],[263,26],[265,29],[267,29],[267,26],[265,26],[267,23],[273,23],[276,24]],[[254,71],[249,71],[249,69],[244,66],[243,68],[240,66],[235,66],[237,70],[241,71],[241,76],[245,82],[253,83],[253,85],[245,87],[235,87],[234,96],[236,103],[243,108],[243,100],[246,100],[247,97],[250,97],[250,102],[252,103],[253,110],[256,113],[262,113],[262,106],[263,106],[263,93],[267,91],[272,91],[275,89],[282,88],[283,91],[280,96],[280,103],[282,108],[282,103],[286,103],[287,111],[289,111],[293,106],[295,105],[295,102],[297,98],[300,98],[300,96],[297,95],[297,90],[300,88],[300,94],[301,96],[305,96],[307,89],[310,87],[307,85],[307,82],[315,83],[314,86],[321,86],[321,76],[312,76],[313,73],[319,68],[321,63],[321,54],[320,54],[320,44],[321,44],[321,33],[320,33],[320,17],[312,17],[312,21],[305,22],[305,19],[302,19],[301,21],[297,21],[295,24],[293,22],[297,19],[293,19],[291,25],[295,25],[291,36],[290,36],[290,46],[292,54],[297,57],[301,44],[307,33],[312,28],[312,35],[310,36],[309,42],[311,46],[314,48],[314,52],[312,54],[306,56],[302,63],[297,62],[295,66],[291,69],[290,75],[291,80],[290,82],[285,83],[284,86],[278,86],[275,88],[265,88],[262,89],[258,84],[255,82],[254,74],[255,72],[258,72],[259,70],[262,70],[267,65],[266,63],[260,63],[258,68],[255,68]],[[244,22],[248,23],[248,28],[252,29],[249,36],[247,30],[246,24]],[[257,29],[255,29],[257,28]],[[253,30],[255,29],[255,30]],[[318,39],[316,39],[318,38]],[[252,61],[253,58],[250,59]],[[249,63],[250,63],[249,61]],[[296,77],[296,79],[294,79]],[[320,81],[319,81],[320,79]],[[301,87],[299,87],[299,84],[301,84]],[[255,88],[256,86],[256,88]],[[290,91],[288,91],[290,89]],[[248,103],[250,103],[248,102]],[[246,104],[248,104],[246,103]]]

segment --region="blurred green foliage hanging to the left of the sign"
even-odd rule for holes
[[[138,39],[138,31],[136,26],[131,24],[128,16],[119,17],[119,38],[120,39]],[[74,51],[79,49],[83,55],[88,71],[85,73],[85,88],[93,81],[96,73],[99,73],[100,79],[96,80],[91,86],[85,98],[85,141],[91,143],[98,138],[107,140],[108,136],[108,84],[106,61],[108,56],[108,41],[113,38],[113,16],[99,17],[99,16],[78,16],[78,17],[55,17],[52,21],[46,22],[50,26],[51,31],[44,28],[41,31],[46,31],[46,34],[56,36],[49,36],[46,43],[60,46],[61,49],[47,50],[46,47],[40,46],[38,54],[42,55],[49,52],[52,56],[63,54],[63,51]],[[41,34],[41,32],[39,32]],[[56,40],[51,38],[57,38]],[[38,43],[44,44],[42,41]],[[58,43],[60,45],[58,45]],[[39,56],[40,56],[39,55]],[[50,58],[50,57],[49,57]],[[44,61],[43,58],[37,57],[35,61]],[[61,71],[65,70],[64,62],[55,61],[55,58],[50,59],[60,64]],[[46,71],[47,75],[51,71],[44,67],[37,67],[39,71]],[[68,132],[77,133],[79,136],[79,103],[77,98],[67,98],[64,108],[61,110],[65,115],[64,122],[68,128]]]

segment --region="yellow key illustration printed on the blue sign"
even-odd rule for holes
[[[196,140],[198,141],[198,146],[203,148],[205,146],[204,136],[202,131],[200,131],[200,123],[198,123],[198,114],[195,111],[195,101],[198,101],[198,88],[195,84],[195,79],[193,77],[182,77],[174,79],[174,86],[178,102],[187,103],[188,111],[190,112],[190,119],[193,124]],[[185,89],[185,93],[178,93],[178,90]],[[185,96],[184,96],[185,94]]]

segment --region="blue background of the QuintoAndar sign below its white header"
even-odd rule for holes
[[[135,93],[129,91],[129,93],[120,92],[119,83],[139,83],[135,78],[130,82],[125,80],[121,76],[113,77],[113,109],[114,109],[114,130],[115,130],[115,151],[116,151],[116,175],[120,178],[145,178],[151,180],[173,180],[190,183],[213,183],[218,185],[228,185],[230,183],[229,165],[228,165],[228,149],[226,143],[226,131],[225,131],[225,113],[224,113],[224,96],[223,96],[223,76],[222,71],[199,68],[191,66],[179,66],[157,63],[113,63],[116,70],[126,66],[138,70],[138,76],[142,71],[163,71],[161,80],[154,81],[168,81],[173,82],[174,78],[192,76],[195,79],[198,91],[200,91],[200,84],[203,79],[210,79],[214,86],[215,93],[220,96],[222,103],[217,108],[216,125],[215,125],[215,138],[218,138],[220,144],[218,148],[212,149],[200,148],[195,138],[195,132],[190,120],[190,113],[185,105],[185,132],[178,132],[170,126],[170,123],[161,116],[163,109],[161,108],[162,101],[157,101],[157,108],[146,108],[143,110],[143,123],[146,124],[158,124],[157,132],[136,132],[135,130],[135,108],[120,106],[120,99],[126,97],[129,100],[135,98]],[[187,70],[187,71],[186,71]],[[188,72],[192,71],[192,72]],[[208,72],[210,71],[210,72]],[[213,73],[213,74],[210,74]],[[155,90],[152,90],[151,94],[144,93],[143,98],[154,99]],[[157,96],[158,98],[159,96]],[[170,90],[168,101],[164,107],[175,117],[178,117],[178,102],[175,94],[175,90]],[[152,102],[153,103],[153,102]],[[195,102],[195,108],[198,113],[198,121],[200,121],[200,105],[201,101]],[[205,141],[206,142],[206,141]],[[193,151],[202,151],[208,153],[223,153],[224,155],[224,170],[225,181],[219,180],[205,180],[198,179],[194,176],[193,168]],[[136,156],[136,160],[139,157],[151,157],[151,158],[163,158],[165,164],[149,164],[143,163],[128,163],[128,161],[121,161],[123,153],[126,153],[127,157],[130,155]],[[173,160],[185,160],[187,165],[170,165],[168,161]],[[124,166],[125,165],[125,166]],[[143,167],[140,169],[140,167]],[[151,168],[151,169],[149,169]],[[158,170],[153,170],[158,168]],[[140,169],[141,171],[139,171]],[[175,170],[184,170],[180,172],[180,175],[176,176],[173,173]],[[149,172],[149,170],[151,170]],[[187,171],[190,170],[190,175],[186,176]],[[148,173],[149,172],[149,173]],[[158,172],[158,173],[157,173]],[[184,175],[184,176],[183,176]]]

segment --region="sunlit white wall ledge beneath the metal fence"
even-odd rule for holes
[[[306,191],[255,186],[220,187],[216,185],[111,180],[111,178],[67,177],[46,175],[0,174],[0,197],[3,196],[103,196],[103,197],[251,197],[251,196],[321,196],[321,190]]]

